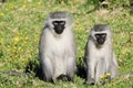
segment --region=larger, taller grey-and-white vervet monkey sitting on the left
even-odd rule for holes
[[[73,80],[75,66],[75,38],[72,32],[70,13],[52,12],[45,20],[40,36],[39,59],[45,81],[51,81],[61,75]]]

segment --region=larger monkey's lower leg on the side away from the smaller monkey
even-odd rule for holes
[[[44,58],[42,64],[42,73],[44,75],[44,80],[53,82],[53,64],[50,58]]]

